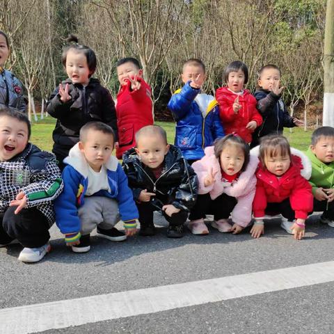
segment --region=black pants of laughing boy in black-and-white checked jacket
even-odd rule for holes
[[[8,207],[5,212],[0,212],[0,244],[9,244],[14,239],[28,248],[47,244],[49,223],[44,214],[34,207],[15,214],[16,208]]]

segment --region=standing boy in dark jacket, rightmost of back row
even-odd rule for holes
[[[257,87],[254,96],[263,123],[253,132],[251,148],[259,145],[260,138],[267,134],[283,134],[283,127],[303,125],[298,118],[289,116],[281,99],[284,87],[280,87],[280,69],[276,65],[265,65],[257,73]]]

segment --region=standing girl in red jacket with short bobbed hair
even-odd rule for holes
[[[250,143],[252,132],[262,124],[262,117],[256,109],[255,97],[244,89],[248,68],[241,61],[233,61],[226,67],[223,79],[227,87],[216,90],[216,100],[225,132],[235,133]]]

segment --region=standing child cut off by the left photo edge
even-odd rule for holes
[[[12,72],[3,68],[8,55],[8,37],[0,30],[0,106],[2,104],[26,112],[21,81]]]

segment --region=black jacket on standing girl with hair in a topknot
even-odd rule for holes
[[[117,121],[113,98],[97,79],[90,79],[88,86],[72,84],[70,79],[62,82],[69,84],[69,94],[72,99],[61,102],[59,88],[49,97],[47,112],[57,118],[56,127],[52,134],[54,139],[53,152],[67,157],[69,150],[79,141],[79,131],[83,125],[98,120],[110,125],[116,134]]]

